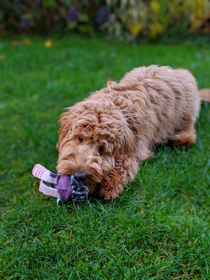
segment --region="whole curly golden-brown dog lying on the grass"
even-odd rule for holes
[[[209,90],[203,95],[209,99]],[[67,109],[59,120],[57,171],[74,174],[90,193],[99,185],[108,200],[135,177],[155,144],[196,142],[200,97],[189,71],[151,65]]]

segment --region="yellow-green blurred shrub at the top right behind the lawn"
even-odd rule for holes
[[[110,19],[110,26],[104,25],[113,35],[124,34],[128,40],[138,36],[153,40],[159,34],[210,31],[204,28],[210,18],[209,0],[121,0],[119,7],[116,7],[116,0],[107,2],[115,7],[115,18],[114,21]],[[119,27],[125,31],[119,32]]]

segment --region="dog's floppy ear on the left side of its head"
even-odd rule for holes
[[[72,120],[73,120],[73,107],[68,107],[64,110],[64,113],[61,114],[60,119],[58,120],[58,143],[56,148],[59,149],[61,142],[66,137],[66,134],[72,130]]]

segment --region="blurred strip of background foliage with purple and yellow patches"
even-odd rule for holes
[[[210,0],[1,0],[0,34],[104,31],[120,41],[210,34]]]

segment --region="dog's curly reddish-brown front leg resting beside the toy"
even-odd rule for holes
[[[138,170],[138,163],[133,158],[121,155],[109,174],[100,183],[99,194],[105,200],[119,197],[128,180],[132,180]]]

